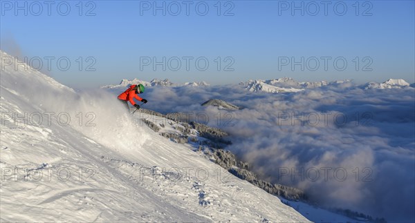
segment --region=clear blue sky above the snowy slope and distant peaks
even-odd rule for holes
[[[0,48],[75,88],[133,78],[413,83],[414,8],[414,1],[1,0]]]

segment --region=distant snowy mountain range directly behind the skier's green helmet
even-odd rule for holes
[[[199,87],[199,86],[210,86],[205,81],[200,81],[200,82],[186,82],[184,84],[174,84],[174,83],[172,83],[172,81],[169,81],[169,79],[164,79],[164,80],[153,79],[151,81],[142,81],[140,79],[134,78],[132,80],[122,79],[122,81],[120,82],[120,84],[102,86],[101,88],[124,88],[124,87],[130,86],[132,84],[142,84],[142,85],[144,85],[146,87],[148,87],[148,86],[163,86],[163,87],[177,87],[177,86],[194,86],[194,87]]]

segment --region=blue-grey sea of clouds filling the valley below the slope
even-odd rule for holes
[[[414,221],[415,89],[364,89],[351,81],[299,93],[241,86],[154,87],[145,108],[185,112],[230,133],[227,149],[270,182],[313,202]],[[241,110],[204,107],[223,99]]]

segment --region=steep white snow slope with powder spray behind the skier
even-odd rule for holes
[[[1,57],[1,221],[307,221],[113,95],[77,94]]]

